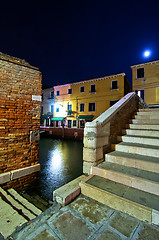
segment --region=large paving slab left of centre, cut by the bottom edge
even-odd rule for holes
[[[57,217],[53,225],[66,240],[85,240],[91,233],[86,223],[80,218],[75,217],[70,211]]]

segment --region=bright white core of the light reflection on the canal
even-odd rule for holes
[[[57,171],[61,169],[62,166],[62,152],[60,151],[59,148],[55,148],[52,151],[50,151],[50,161],[49,161],[49,167],[50,171]]]

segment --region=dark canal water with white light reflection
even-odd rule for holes
[[[39,141],[38,191],[52,200],[53,191],[82,174],[83,143],[81,141],[41,138]]]

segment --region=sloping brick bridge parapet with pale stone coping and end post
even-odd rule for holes
[[[104,155],[111,151],[111,144],[117,142],[125,124],[137,111],[139,97],[128,93],[84,128],[83,173],[91,174],[92,166],[104,161]]]

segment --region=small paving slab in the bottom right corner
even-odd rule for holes
[[[159,230],[144,225],[143,230],[139,234],[139,240],[158,240],[159,239]]]

